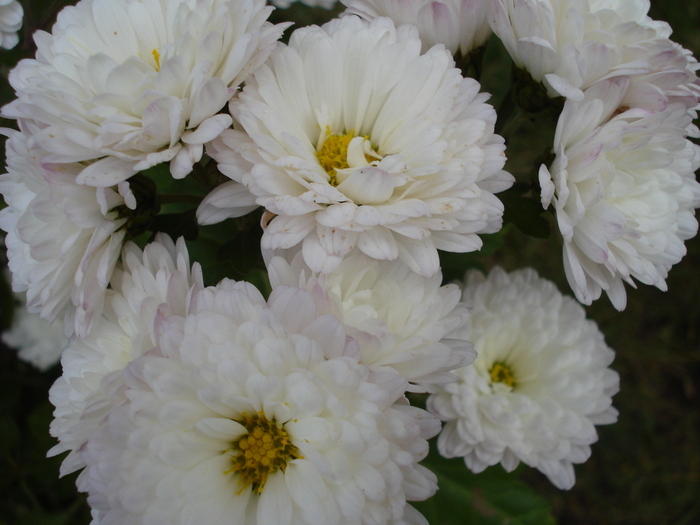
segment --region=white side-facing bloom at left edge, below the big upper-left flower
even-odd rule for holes
[[[104,291],[126,234],[114,208],[124,198],[110,188],[76,184],[82,164],[43,166],[45,152],[29,149],[27,136],[5,130],[8,173],[0,193],[8,207],[0,228],[16,292],[27,292],[27,310],[84,337],[99,318]],[[129,192],[128,196],[133,198]]]

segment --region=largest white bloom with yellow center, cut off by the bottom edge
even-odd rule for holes
[[[124,370],[128,401],[83,449],[99,523],[427,524],[406,501],[437,489],[417,461],[439,422],[290,293],[309,295],[266,304],[225,280],[159,316],[158,346]]]

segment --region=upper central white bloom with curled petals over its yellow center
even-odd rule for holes
[[[437,249],[477,250],[500,229],[494,193],[512,177],[496,113],[447,50],[420,49],[414,27],[345,16],[296,30],[246,83],[231,103],[241,129],[208,151],[273,214],[263,248],[302,243],[327,273],[357,246],[431,276]],[[231,187],[205,204],[225,209]],[[250,202],[231,198],[230,214]]]

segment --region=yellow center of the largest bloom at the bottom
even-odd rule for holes
[[[244,414],[244,417],[245,421],[240,423],[248,433],[233,443],[233,466],[226,474],[236,472],[240,476],[239,494],[251,484],[259,494],[270,474],[284,472],[289,461],[301,459],[302,455],[274,418],[268,421],[262,414],[252,417]]]

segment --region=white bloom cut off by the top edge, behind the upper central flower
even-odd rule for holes
[[[489,0],[341,0],[347,13],[367,20],[388,16],[398,26],[418,26],[423,51],[443,44],[455,55],[468,55],[491,35]]]

